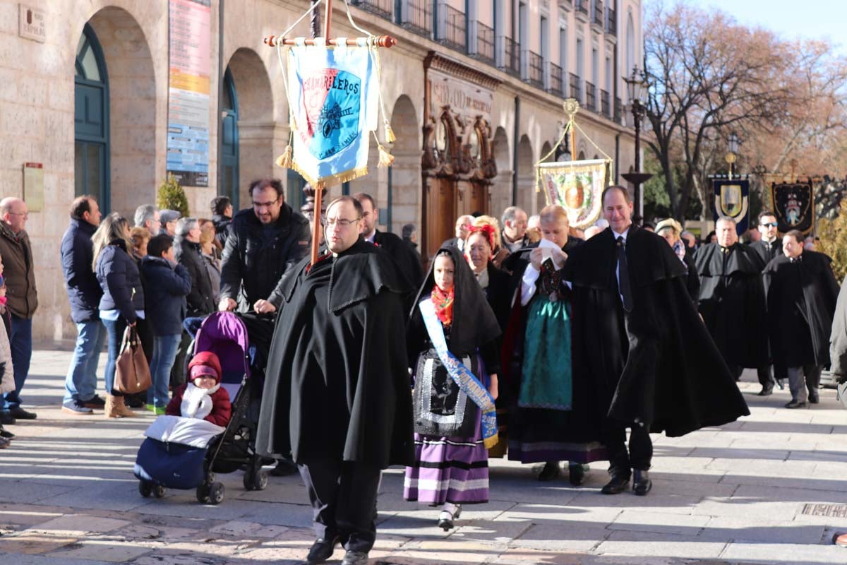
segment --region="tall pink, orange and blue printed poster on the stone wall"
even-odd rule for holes
[[[211,0],[169,0],[168,172],[208,186]]]

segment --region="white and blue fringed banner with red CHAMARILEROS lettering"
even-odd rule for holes
[[[309,183],[333,186],[368,174],[368,132],[378,124],[379,84],[367,47],[289,50],[291,168]]]

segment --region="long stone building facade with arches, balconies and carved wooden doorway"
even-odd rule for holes
[[[208,217],[208,202],[219,193],[243,208],[249,181],[268,175],[285,181],[297,207],[302,179],[274,165],[289,136],[288,108],[277,54],[263,38],[288,28],[308,4],[206,3],[208,186],[186,187],[191,213]],[[616,159],[613,180],[631,169],[634,131],[622,77],[642,59],[639,0],[352,4],[358,25],[397,39],[382,56],[396,160],[377,169],[373,149],[371,173],[330,196],[372,193],[383,229],[399,233],[414,223],[431,251],[450,235],[457,213],[499,216],[512,202],[540,209],[534,163],[559,137],[565,97],[580,100],[579,125]],[[358,36],[344,3],[336,0],[334,8],[333,35]],[[308,19],[295,30],[308,36]],[[69,203],[89,193],[105,210],[131,214],[154,202],[166,175],[169,2],[0,2],[0,101],[3,195],[29,201],[24,163],[42,164],[43,205],[30,205],[27,225],[40,302],[33,331],[43,340],[70,339],[75,330],[58,260]],[[577,136],[576,153],[598,152]]]

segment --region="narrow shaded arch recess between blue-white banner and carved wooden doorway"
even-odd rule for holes
[[[391,148],[394,164],[388,172],[387,188],[391,196],[390,225],[388,218],[382,218],[380,221],[397,234],[401,233],[404,224],[415,224],[420,234],[422,134],[418,109],[405,94],[394,102],[394,108],[391,110],[391,130],[394,130],[396,141]],[[374,153],[376,152],[374,147]]]

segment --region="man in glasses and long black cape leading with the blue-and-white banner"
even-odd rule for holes
[[[335,544],[344,565],[368,562],[379,475],[413,458],[406,352],[407,290],[396,263],[358,233],[362,206],[329,203],[329,252],[298,263],[282,286],[256,449],[291,450],[314,512],[309,563]]]

